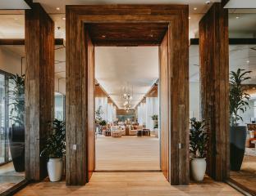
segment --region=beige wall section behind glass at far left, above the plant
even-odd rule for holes
[[[21,56],[0,47],[0,69],[7,73],[21,74]]]

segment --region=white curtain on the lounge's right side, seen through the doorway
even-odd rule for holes
[[[146,127],[153,131],[153,115],[159,114],[158,97],[146,97]]]

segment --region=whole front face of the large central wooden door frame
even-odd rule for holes
[[[66,6],[66,185],[85,185],[88,164],[88,70],[86,23],[168,23],[167,180],[188,185],[189,9],[187,5]],[[75,96],[74,96],[75,95]],[[74,147],[75,146],[75,147]]]

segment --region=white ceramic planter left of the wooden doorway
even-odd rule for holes
[[[62,179],[62,168],[62,158],[49,158],[47,170],[50,181],[59,181]]]

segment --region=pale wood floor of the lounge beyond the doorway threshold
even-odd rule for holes
[[[98,136],[96,170],[159,170],[159,154],[154,136]]]

